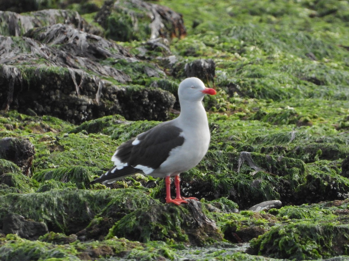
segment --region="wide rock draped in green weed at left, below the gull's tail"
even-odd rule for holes
[[[143,192],[133,189],[90,191],[66,188],[7,194],[0,196],[0,226],[7,213],[15,213],[44,222],[50,231],[69,235],[86,228],[96,215],[104,213],[105,208],[113,209],[113,214],[109,215],[121,218],[153,201]]]

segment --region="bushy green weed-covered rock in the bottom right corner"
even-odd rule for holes
[[[348,255],[348,224],[300,221],[272,227],[251,243],[251,253],[270,258],[323,259]]]

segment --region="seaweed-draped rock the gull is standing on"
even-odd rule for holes
[[[203,214],[201,203],[194,200],[183,207],[154,204],[137,209],[113,226],[107,237],[113,236],[140,242],[174,240],[194,246],[222,240],[214,221]]]

